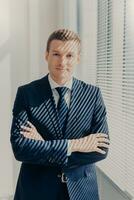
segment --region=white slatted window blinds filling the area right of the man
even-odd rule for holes
[[[134,197],[134,1],[98,0],[97,76],[111,145],[98,166]]]

